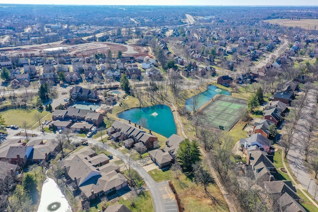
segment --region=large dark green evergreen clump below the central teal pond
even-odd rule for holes
[[[192,164],[201,161],[200,150],[197,141],[185,139],[179,144],[177,151],[178,162],[185,170],[192,171]]]

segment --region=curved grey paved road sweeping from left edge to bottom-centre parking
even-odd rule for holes
[[[19,130],[11,130],[8,129],[8,136],[7,139],[15,139],[15,138],[21,138],[19,136],[14,136],[17,132],[22,131],[21,129]],[[31,133],[31,132],[30,132]],[[54,134],[54,133],[42,133],[38,131],[32,131],[33,134],[36,134],[37,137],[35,139],[55,139],[57,135],[59,134]],[[73,138],[72,142],[80,142],[83,138],[80,137],[75,137]],[[87,139],[87,138],[85,138]],[[116,157],[120,158],[123,160],[126,164],[129,162],[129,157],[120,151],[112,148],[109,145],[106,145],[104,143],[95,141],[93,139],[87,139],[88,143],[91,145],[96,145],[99,146],[111,154],[115,155]],[[154,203],[154,210],[155,212],[177,212],[178,211],[178,206],[177,202],[174,198],[171,198],[170,196],[167,196],[168,194],[171,194],[172,191],[169,186],[162,186],[164,182],[162,183],[156,183],[154,179],[147,173],[147,171],[139,165],[136,161],[130,160],[131,163],[131,168],[136,170],[138,174],[144,179],[145,183],[147,184],[147,187],[151,193],[153,203]],[[163,189],[165,188],[165,189]],[[173,193],[172,193],[173,194]]]

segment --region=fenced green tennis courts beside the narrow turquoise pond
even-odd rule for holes
[[[246,100],[220,95],[202,108],[212,127],[230,131],[239,121],[239,111],[247,108]]]

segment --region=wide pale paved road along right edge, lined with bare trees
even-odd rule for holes
[[[299,132],[295,133],[294,138],[301,138],[301,132],[304,130],[303,125],[306,122],[306,116],[307,114],[310,114],[311,108],[315,107],[315,98],[313,91],[310,91],[307,96],[308,104],[306,108],[303,111],[303,114],[298,121],[297,129]],[[289,166],[293,171],[294,176],[296,176],[297,180],[303,185],[303,187],[314,197],[316,190],[318,187],[315,184],[315,180],[312,178],[310,173],[308,172],[304,156],[303,156],[303,149],[302,145],[299,145],[298,148],[293,148],[289,150],[287,159],[289,162]],[[318,194],[316,194],[316,197],[318,197]]]

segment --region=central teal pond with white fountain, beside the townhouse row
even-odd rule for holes
[[[145,128],[151,129],[166,138],[177,133],[173,114],[166,105],[134,108],[119,113],[118,117],[127,121],[131,120],[132,123],[137,124],[141,118],[145,118],[147,120]]]

